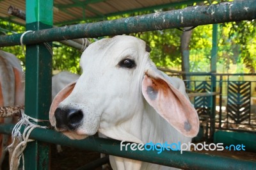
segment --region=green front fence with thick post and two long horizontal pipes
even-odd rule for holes
[[[209,6],[191,6],[182,10],[152,13],[125,19],[51,28],[52,6],[52,0],[26,1],[26,30],[32,30],[32,32],[26,33],[22,39],[22,43],[26,45],[25,112],[29,116],[40,120],[48,119],[49,106],[51,104],[52,54],[45,47],[45,42],[51,45],[51,42],[58,40],[93,38],[256,19],[256,1],[240,0],[211,4]],[[0,47],[20,45],[21,35],[0,36]],[[214,74],[216,73],[216,52],[214,52],[214,49],[212,50],[211,68],[211,81],[216,82],[216,75]],[[216,87],[214,83],[211,86],[212,89]],[[49,92],[45,93],[45,91]],[[10,134],[13,125],[1,124],[0,127],[1,132]],[[184,152],[182,155],[170,151],[163,151],[161,155],[158,155],[157,151],[152,151],[150,154],[147,151],[129,150],[122,152],[120,151],[120,141],[97,137],[72,141],[63,138],[61,134],[54,132],[54,130],[41,128],[36,128],[31,132],[31,139],[36,139],[36,141],[28,143],[26,150],[24,150],[26,169],[48,169],[49,146],[45,143],[76,146],[84,150],[99,151],[100,153],[183,169],[253,169],[256,167],[256,162],[192,152]]]

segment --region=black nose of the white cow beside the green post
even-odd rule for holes
[[[56,128],[64,130],[76,130],[83,120],[83,112],[77,109],[60,109],[54,112]]]

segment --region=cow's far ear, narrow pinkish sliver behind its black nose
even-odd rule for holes
[[[52,104],[51,104],[50,111],[49,111],[49,119],[50,119],[51,124],[53,123],[52,121],[54,120],[54,118],[53,118],[54,112],[57,109],[58,105],[60,104],[60,102],[65,100],[65,98],[67,98],[70,95],[70,93],[73,91],[75,85],[76,85],[76,81],[71,82],[65,88],[61,89],[61,91],[52,100]]]

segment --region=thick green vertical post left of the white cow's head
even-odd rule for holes
[[[52,8],[52,0],[26,0],[26,30],[36,31],[51,28]],[[49,119],[52,75],[51,49],[52,43],[26,45],[25,112],[32,118],[39,120]],[[24,154],[25,169],[49,169],[48,144],[40,141],[28,143]]]

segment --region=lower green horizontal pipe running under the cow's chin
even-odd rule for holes
[[[14,125],[0,124],[0,133],[11,134]],[[21,132],[23,132],[22,128]],[[72,146],[81,150],[98,151],[118,157],[132,158],[153,164],[161,164],[163,166],[172,166],[182,169],[254,169],[256,162],[237,160],[234,158],[207,155],[203,153],[195,153],[184,151],[163,151],[157,154],[156,150],[152,151],[132,151],[127,147],[127,151],[120,151],[120,141],[113,139],[104,139],[99,137],[88,137],[83,140],[71,140],[63,134],[50,129],[35,128],[31,132],[31,139],[43,141],[46,143],[61,144],[64,146]],[[218,163],[217,163],[218,162]]]

